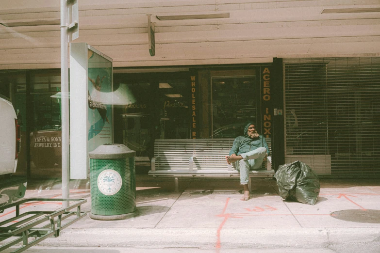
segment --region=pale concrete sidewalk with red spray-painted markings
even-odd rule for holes
[[[272,179],[253,179],[252,198],[240,201],[238,180],[180,180],[175,193],[173,180],[137,175],[138,210],[129,219],[97,221],[87,215],[29,251],[375,253],[380,252],[379,181],[322,179],[318,201],[310,206],[283,201]],[[31,183],[26,197],[59,198],[60,188],[60,182]],[[82,210],[90,211],[88,181],[72,181],[70,189],[71,198],[87,199]]]

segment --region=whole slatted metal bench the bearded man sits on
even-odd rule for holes
[[[271,150],[270,138],[265,138]],[[234,139],[169,139],[154,142],[154,157],[149,175],[154,178],[173,177],[174,190],[178,192],[178,178],[238,178],[235,164],[227,164],[225,156],[229,154]],[[262,170],[250,171],[253,176],[273,176],[271,153]]]

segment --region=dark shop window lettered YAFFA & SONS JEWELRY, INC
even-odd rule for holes
[[[60,71],[31,75],[30,152],[31,175],[61,177],[61,77]]]

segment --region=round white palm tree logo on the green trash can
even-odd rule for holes
[[[116,194],[122,185],[120,174],[114,170],[104,170],[98,176],[98,189],[104,195]]]

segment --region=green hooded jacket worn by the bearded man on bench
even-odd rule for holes
[[[253,122],[249,122],[244,127],[244,136],[238,136],[235,138],[235,140],[233,141],[233,144],[232,144],[231,151],[230,151],[230,156],[232,154],[235,154],[238,156],[242,153],[247,153],[247,152],[255,150],[259,147],[266,148],[266,153],[269,155],[268,144],[266,143],[263,135],[260,134],[259,137],[254,138],[254,139],[248,137],[248,127],[250,125],[256,126]]]

